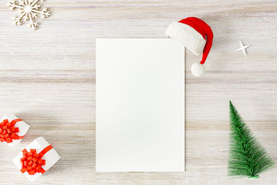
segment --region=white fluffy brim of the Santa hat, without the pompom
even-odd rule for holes
[[[195,55],[203,53],[206,40],[194,28],[180,22],[172,22],[166,29],[166,35],[183,44]]]

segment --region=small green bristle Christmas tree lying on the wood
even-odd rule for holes
[[[274,161],[251,134],[231,101],[229,103],[231,125],[229,175],[256,179],[260,173],[274,166]]]

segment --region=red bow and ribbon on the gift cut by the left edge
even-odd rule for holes
[[[0,123],[0,141],[7,143],[12,143],[13,139],[23,139],[24,136],[19,136],[16,133],[19,132],[19,127],[15,127],[15,124],[21,119],[17,118],[8,122],[8,119],[4,119],[3,122]]]

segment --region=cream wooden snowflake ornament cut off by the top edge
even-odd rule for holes
[[[34,21],[34,19],[37,18],[37,15],[41,15],[43,19],[50,16],[50,12],[47,8],[43,8],[42,10],[39,9],[40,6],[38,1],[39,0],[19,0],[18,2],[15,0],[8,1],[7,5],[10,10],[14,10],[14,8],[19,9],[19,16],[13,19],[12,24],[14,26],[20,26],[22,20],[30,20],[28,27],[36,30],[39,24],[37,21]]]

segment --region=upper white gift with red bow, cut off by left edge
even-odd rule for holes
[[[0,120],[0,141],[12,147],[20,143],[27,134],[30,125],[15,115],[3,116]]]

